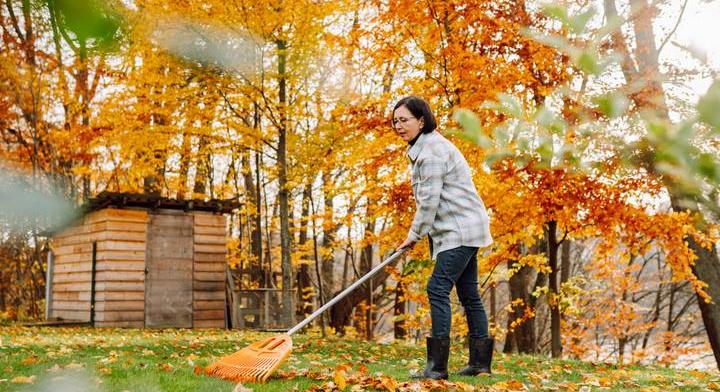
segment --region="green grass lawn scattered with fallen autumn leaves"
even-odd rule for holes
[[[0,391],[228,391],[231,382],[196,374],[218,357],[270,334],[237,331],[0,327]],[[317,334],[298,335],[295,348],[254,391],[381,390],[720,390],[717,372],[614,366],[497,354],[491,377],[451,383],[410,383],[424,364],[424,347],[370,344]],[[466,352],[453,347],[451,370]],[[346,369],[343,371],[338,369]],[[294,377],[292,377],[295,375]],[[238,388],[240,390],[241,388]],[[339,390],[339,389],[335,389]]]

